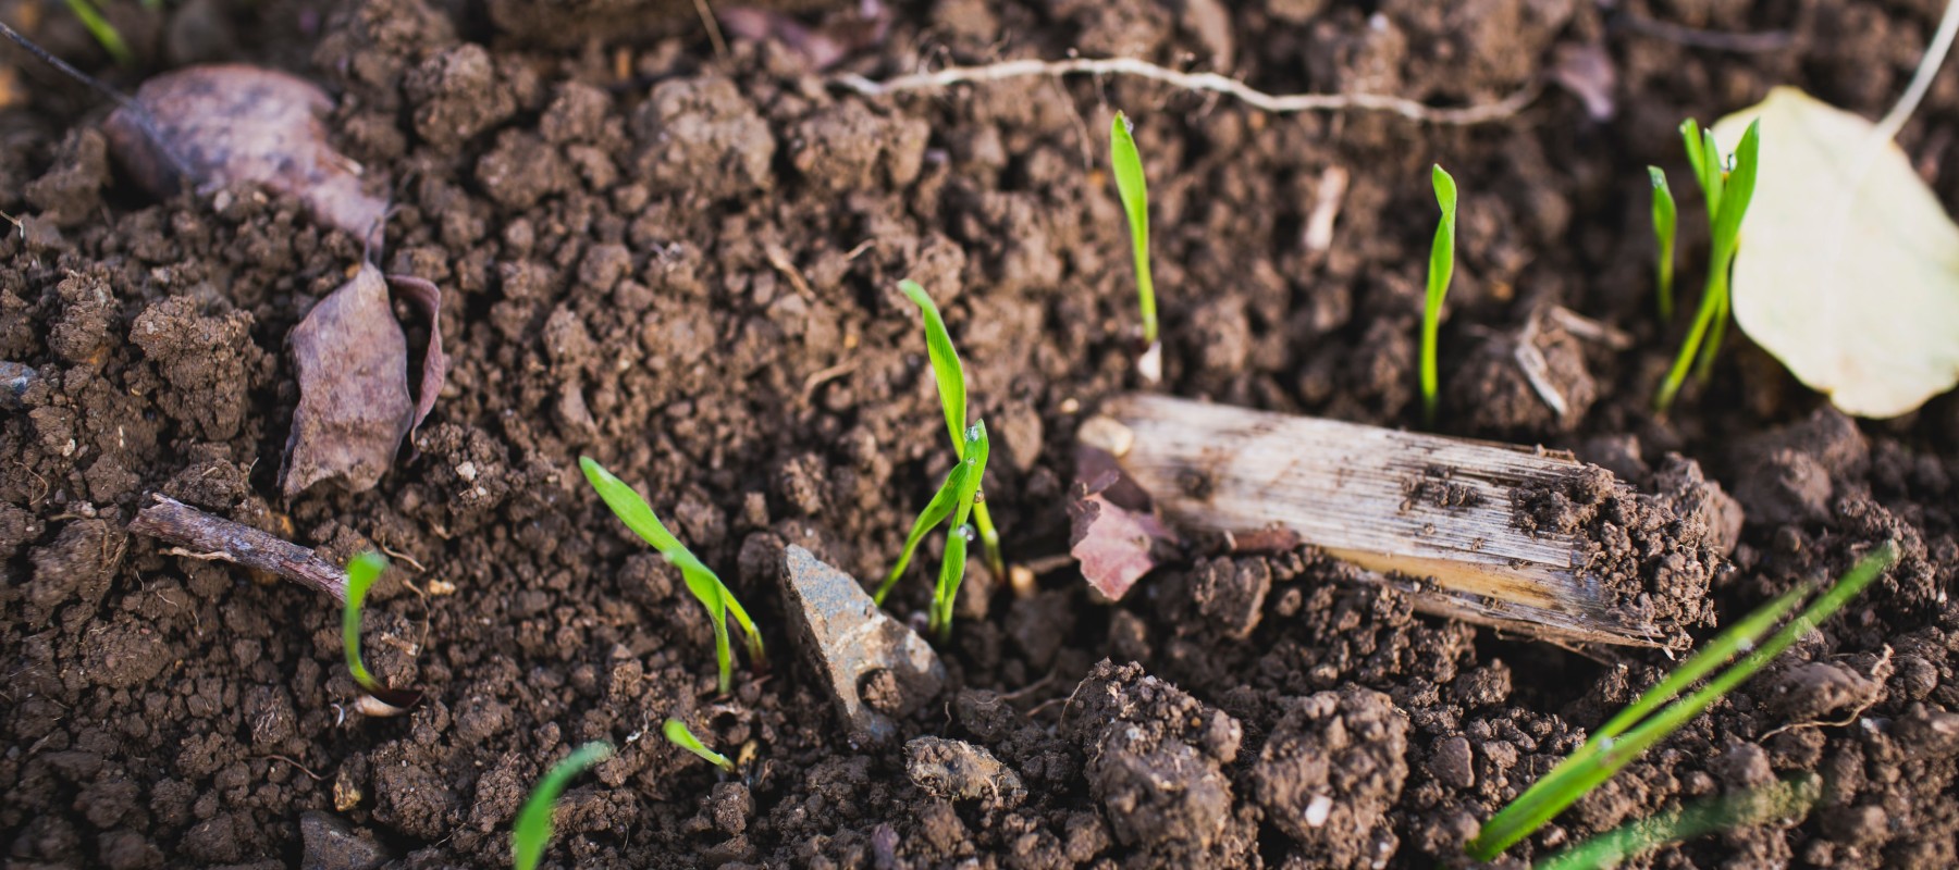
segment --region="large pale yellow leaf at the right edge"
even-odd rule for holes
[[[1734,317],[1791,374],[1861,417],[1959,382],[1959,227],[1875,125],[1796,88],[1722,118],[1761,120],[1761,170],[1734,261]]]

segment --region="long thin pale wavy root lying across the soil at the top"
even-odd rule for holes
[[[1217,72],[1179,72],[1134,57],[1077,57],[1068,61],[1003,61],[985,67],[948,67],[938,72],[917,72],[887,80],[870,80],[860,74],[842,74],[835,82],[864,96],[885,96],[903,90],[944,90],[962,82],[997,82],[1025,76],[1070,76],[1070,74],[1126,74],[1171,84],[1183,90],[1232,96],[1252,108],[1293,114],[1293,112],[1391,112],[1424,123],[1489,123],[1514,116],[1536,100],[1542,84],[1532,78],[1522,90],[1491,104],[1463,108],[1432,108],[1414,100],[1385,94],[1266,94],[1252,86]]]

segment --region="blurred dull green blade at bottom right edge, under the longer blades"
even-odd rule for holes
[[[1728,831],[1775,817],[1800,817],[1822,794],[1822,780],[1800,774],[1773,786],[1695,801],[1653,817],[1628,821],[1577,846],[1538,862],[1536,870],[1597,870],[1620,866],[1626,858],[1667,843]]]

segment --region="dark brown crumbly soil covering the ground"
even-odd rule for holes
[[[952,459],[899,278],[940,300],[995,431],[987,504],[1009,556],[1066,551],[1074,427],[1138,386],[1101,169],[1115,108],[1138,120],[1152,176],[1162,390],[1414,425],[1440,161],[1463,190],[1442,431],[1573,449],[1653,494],[1679,484],[1671,455],[1696,460],[1745,517],[1712,576],[1724,621],[1898,541],[1896,570],[1847,613],[1508,866],[1792,772],[1824,782],[1804,819],[1642,864],[1959,860],[1959,400],[1847,421],[1734,337],[1712,384],[1648,413],[1679,325],[1651,315],[1644,167],[1685,178],[1675,125],[1773,84],[1875,118],[1943,4],[938,0],[897,10],[842,65],[1079,49],[1273,92],[1465,104],[1561,47],[1610,55],[1610,120],[1552,88],[1481,127],[1273,118],[1128,78],[864,100],[780,43],[717,57],[692,4],[615,6],[682,18],[549,47],[562,33],[502,33],[482,4],[110,4],[139,49],[118,71],[59,6],[0,2],[123,88],[214,59],[327,86],[335,147],[394,202],[382,266],[445,290],[453,355],[413,455],[376,490],[284,502],[284,337],[360,241],[259,188],[145,198],[112,167],[110,106],[4,55],[0,210],[22,219],[0,227],[8,866],[500,866],[531,782],[592,739],[619,754],[568,794],[560,864],[1459,864],[1481,819],[1671,662],[1416,617],[1309,553],[1164,568],[1119,605],[1072,570],[1030,590],[970,578],[950,688],[901,723],[942,741],[909,754],[850,747],[788,654],[782,549],[882,576]],[[1787,41],[1724,51],[1640,22]],[[1955,141],[1947,69],[1904,133],[1947,208]],[[1350,182],[1316,251],[1303,233],[1330,169]],[[1683,200],[1695,276],[1698,202]],[[1548,306],[1634,339],[1534,339],[1565,415],[1501,364]],[[713,698],[699,607],[590,492],[580,453],[643,484],[721,570],[784,651],[776,672]],[[429,700],[355,713],[331,602],[125,535],[151,492],[337,558],[396,553],[407,570],[376,592],[368,656]],[[887,607],[927,600],[915,576]],[[668,715],[744,758],[742,776],[666,745]]]

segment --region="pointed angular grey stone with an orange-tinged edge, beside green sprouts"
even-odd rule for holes
[[[878,609],[856,578],[789,545],[782,556],[782,586],[803,652],[823,674],[852,743],[884,743],[897,735],[897,723],[858,694],[872,670],[885,668],[897,678],[897,715],[909,715],[938,696],[946,682],[938,654],[915,631]]]

